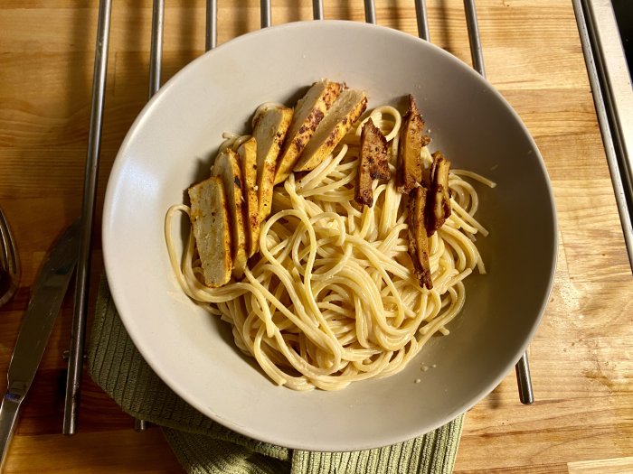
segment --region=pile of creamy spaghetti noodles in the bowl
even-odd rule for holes
[[[378,107],[368,116],[389,140],[395,176],[400,113]],[[407,253],[406,197],[394,178],[374,181],[372,208],[354,202],[361,126],[315,170],[290,174],[275,188],[260,255],[241,282],[206,287],[193,233],[183,256],[172,236],[175,215],[190,209],[175,205],[166,214],[169,257],[184,293],[229,322],[237,347],[270,379],[295,390],[337,390],[401,371],[431,336],[449,333],[465,302],[463,280],[476,268],[486,272],[475,246],[477,234],[487,235],[474,217],[477,192],[451,173],[453,211],[429,242],[433,289],[420,288]],[[224,146],[243,142],[225,138]]]

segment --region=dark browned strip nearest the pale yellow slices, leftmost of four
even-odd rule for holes
[[[361,156],[358,159],[354,200],[364,206],[373,206],[373,180],[391,177],[387,157],[387,139],[370,118],[361,132]]]

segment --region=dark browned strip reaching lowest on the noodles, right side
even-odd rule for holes
[[[409,255],[413,270],[420,281],[420,287],[433,288],[430,276],[429,237],[424,225],[424,208],[427,191],[418,186],[409,194]]]

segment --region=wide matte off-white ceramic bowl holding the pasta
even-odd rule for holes
[[[480,187],[488,274],[402,373],[343,391],[274,386],[231,330],[189,301],[172,274],[165,211],[208,173],[222,132],[241,132],[265,101],[293,104],[321,78],[366,90],[369,107],[412,93],[431,148],[498,183]],[[553,280],[556,224],[543,160],[519,117],[446,51],[391,29],[288,23],[241,36],[180,71],[131,127],[109,177],[103,216],[108,281],[131,338],[165,383],[218,423],[260,441],[350,451],[404,441],[487,395],[534,336]],[[435,365],[423,372],[421,365]],[[420,378],[420,383],[415,380]]]

